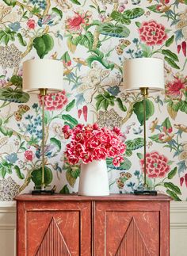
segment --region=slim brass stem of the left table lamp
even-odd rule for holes
[[[42,98],[42,142],[41,142],[41,151],[42,151],[42,176],[41,176],[41,189],[44,190],[44,166],[45,166],[45,153],[44,153],[44,143],[45,143],[45,128],[44,128],[44,97],[47,94],[47,89],[40,89],[40,96]]]

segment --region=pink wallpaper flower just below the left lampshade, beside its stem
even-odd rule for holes
[[[42,105],[42,97],[39,96],[40,105]],[[58,94],[48,94],[44,96],[44,106],[46,110],[62,109],[67,104],[67,96],[65,90]]]

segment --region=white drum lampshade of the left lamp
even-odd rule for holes
[[[23,88],[38,93],[47,89],[48,94],[63,90],[63,63],[55,59],[29,59],[23,63]]]

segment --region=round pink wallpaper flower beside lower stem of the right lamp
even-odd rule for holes
[[[170,166],[168,159],[160,155],[157,151],[146,154],[147,159],[147,176],[149,178],[163,178],[169,172]],[[144,170],[144,159],[140,160],[141,168]]]

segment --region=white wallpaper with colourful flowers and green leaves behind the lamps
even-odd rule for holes
[[[107,159],[111,193],[143,183],[143,101],[123,88],[124,59],[165,62],[165,94],[147,98],[147,184],[187,200],[187,1],[0,1],[0,200],[41,181],[40,98],[22,92],[27,59],[63,62],[63,91],[45,98],[45,182],[78,191],[80,167],[64,159],[68,124],[118,126],[124,162]]]

